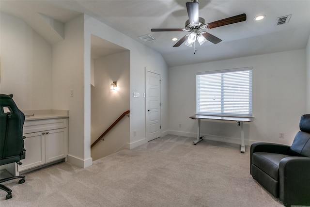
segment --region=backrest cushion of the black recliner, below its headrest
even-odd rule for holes
[[[291,146],[293,156],[310,157],[310,133],[298,131]]]

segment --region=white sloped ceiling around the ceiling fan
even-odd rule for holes
[[[310,36],[310,0],[199,0],[199,16],[206,23],[243,13],[247,20],[208,30],[223,41],[217,45],[210,42],[202,46],[198,44],[196,54],[194,48],[184,44],[173,48],[175,42],[171,38],[180,39],[187,32],[151,32],[151,29],[184,28],[188,19],[188,1],[0,0],[0,11],[23,19],[51,44],[60,41],[60,37],[49,31],[38,13],[62,23],[85,13],[160,52],[169,66],[306,48]],[[266,17],[262,21],[254,21],[253,18],[261,14]],[[276,26],[277,17],[286,15],[292,15],[290,21]],[[145,34],[156,39],[143,42],[138,36]],[[92,43],[101,47],[109,43],[99,39],[93,37]],[[100,55],[101,49],[96,51],[95,55]]]

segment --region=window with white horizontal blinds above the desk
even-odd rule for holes
[[[252,67],[197,73],[197,114],[252,116]]]

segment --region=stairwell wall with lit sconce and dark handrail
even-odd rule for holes
[[[124,111],[130,108],[130,51],[94,60],[94,87],[91,87],[91,143],[93,143]],[[117,89],[109,84],[117,81]],[[129,118],[124,117],[104,141],[93,146],[93,160],[126,148],[130,142]]]

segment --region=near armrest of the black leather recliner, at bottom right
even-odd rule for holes
[[[279,197],[285,206],[310,205],[310,158],[288,157],[279,163]]]

